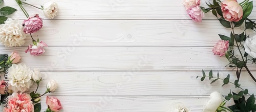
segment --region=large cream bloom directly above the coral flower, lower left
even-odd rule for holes
[[[31,76],[33,72],[27,68],[25,63],[12,64],[8,69],[8,77],[10,79],[11,89],[13,92],[26,92],[33,84]]]

